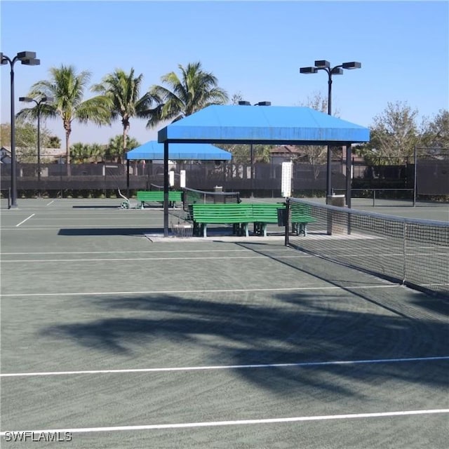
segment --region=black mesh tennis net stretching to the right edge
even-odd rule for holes
[[[449,295],[449,223],[288,199],[289,223],[309,220],[307,237],[286,243],[420,290]],[[302,217],[302,218],[301,218]]]

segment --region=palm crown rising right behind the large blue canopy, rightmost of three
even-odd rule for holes
[[[170,72],[161,77],[168,87],[152,86],[149,99],[156,102],[154,109],[147,111],[147,128],[156,127],[161,121],[177,121],[210,105],[223,105],[228,101],[225,90],[217,86],[217,78],[204,72],[201,62],[178,65],[181,78]]]

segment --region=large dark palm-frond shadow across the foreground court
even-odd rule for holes
[[[152,294],[138,297],[101,297],[86,300],[96,315],[123,318],[95,319],[52,326],[43,336],[69,339],[100,352],[132,356],[177,345],[195,347],[203,365],[316,363],[267,370],[236,369],[236,374],[281,394],[313,386],[332,400],[341,394],[364,396],[370,379],[391,378],[415,384],[447,387],[447,361],[359,363],[335,365],[328,361],[360,361],[447,356],[447,323],[393,314],[368,304],[353,310],[333,293],[278,293],[269,304],[259,293],[245,293],[233,302],[214,293],[213,299],[186,295]],[[254,295],[252,297],[251,295]],[[407,293],[403,300],[407,300]],[[420,295],[419,293],[417,295]],[[413,297],[416,294],[413,293]],[[243,298],[242,298],[243,299]],[[410,299],[410,298],[408,298]],[[139,311],[139,317],[126,317]],[[385,313],[384,313],[385,312]],[[176,366],[176,361],[173,361]],[[337,376],[335,376],[337,374]],[[361,384],[365,387],[361,388]],[[442,390],[443,391],[443,390]],[[329,396],[330,395],[330,396]]]

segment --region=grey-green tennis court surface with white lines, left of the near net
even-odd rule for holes
[[[2,448],[447,447],[447,300],[276,233],[161,239],[161,208],[19,202]]]

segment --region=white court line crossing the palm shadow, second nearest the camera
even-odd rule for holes
[[[370,363],[401,363],[449,360],[449,356],[414,357],[414,358],[375,358],[373,360],[349,360],[328,362],[299,362],[299,363],[260,363],[252,365],[217,365],[217,366],[182,366],[173,368],[128,368],[121,370],[78,370],[78,371],[42,371],[38,373],[2,373],[0,377],[34,377],[34,376],[60,376],[77,374],[123,374],[123,373],[163,373],[175,371],[205,371],[205,370],[241,370],[247,368],[301,368],[308,366],[335,366],[335,365],[361,365]]]

